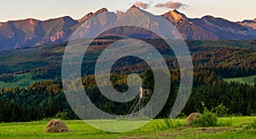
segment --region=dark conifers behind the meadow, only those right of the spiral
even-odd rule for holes
[[[215,72],[200,70],[195,76],[194,88],[183,113],[202,113],[204,107],[212,109],[223,104],[229,109],[230,115],[254,115],[256,113],[256,84],[241,84],[225,82],[216,76]],[[209,74],[210,73],[210,74]],[[196,80],[201,80],[201,83]]]

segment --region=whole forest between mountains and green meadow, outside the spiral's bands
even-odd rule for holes
[[[223,78],[243,77],[256,74],[256,41],[187,41],[194,63],[194,84],[189,101],[183,114],[199,112],[205,107],[212,109],[223,104],[228,114],[251,115],[256,113],[256,85],[224,82]],[[30,85],[6,88],[0,92],[0,122],[32,121],[55,117],[57,113],[67,113],[67,119],[78,119],[69,107],[61,84],[61,57],[65,45],[42,46],[32,49],[16,49],[0,52],[0,81],[15,83],[16,75],[31,73],[32,80],[42,79]],[[83,62],[84,90],[90,100],[105,112],[127,114],[134,101],[117,103],[101,95],[95,83],[93,67],[96,56],[108,42],[98,46],[95,43],[90,55]],[[160,43],[158,43],[161,46]],[[160,47],[160,49],[163,47]],[[163,49],[162,49],[163,50]],[[163,50],[163,55],[165,54]],[[7,55],[6,55],[7,54]],[[166,56],[166,63],[172,75],[172,88],[166,106],[157,118],[169,116],[177,96],[179,86],[179,68],[173,56]],[[2,62],[3,61],[3,62]],[[125,58],[117,61],[111,74],[116,90],[125,91],[127,75],[136,72],[143,83],[154,90],[154,76],[144,61]],[[255,80],[256,81],[256,80]]]

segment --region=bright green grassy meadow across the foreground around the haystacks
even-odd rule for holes
[[[256,138],[256,117],[218,119],[217,127],[183,126],[184,119],[166,125],[166,120],[154,119],[140,129],[122,133],[96,130],[81,120],[64,121],[70,132],[45,133],[48,121],[1,123],[0,138]]]

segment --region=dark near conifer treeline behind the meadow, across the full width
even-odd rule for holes
[[[179,71],[172,70],[172,88],[166,106],[157,118],[169,116],[172,105],[177,96],[179,84]],[[148,71],[141,74],[144,84],[154,90],[154,76]],[[113,87],[121,92],[128,89],[126,75],[111,74]],[[135,100],[127,103],[109,101],[96,87],[94,76],[83,78],[84,90],[90,100],[103,111],[113,114],[127,114]],[[224,82],[214,71],[195,68],[194,88],[183,113],[203,111],[205,107],[211,109],[223,104],[229,109],[229,114],[251,115],[256,113],[256,86]],[[147,102],[147,101],[146,101]],[[0,122],[32,121],[55,117],[59,112],[67,113],[68,119],[78,119],[69,107],[66,96],[62,90],[61,82],[49,80],[34,83],[27,88],[3,88],[0,94]]]

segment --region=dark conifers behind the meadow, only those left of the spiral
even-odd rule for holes
[[[39,120],[54,117],[58,112],[67,112],[70,119],[77,118],[67,103],[59,81],[44,81],[27,88],[1,90],[1,122]]]

